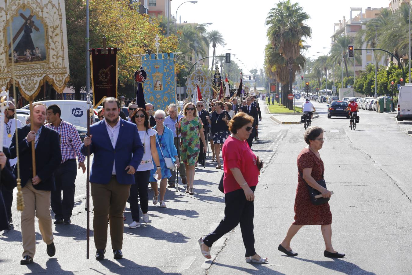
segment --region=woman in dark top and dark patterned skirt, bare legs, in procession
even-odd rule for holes
[[[227,122],[230,120],[229,114],[223,110],[223,102],[216,101],[215,103],[216,110],[212,112],[212,115],[209,116],[208,122],[212,125],[213,133],[213,146],[215,147],[215,156],[218,165],[216,169],[222,168],[220,164],[220,146],[225,143],[227,136],[229,135],[227,129]]]

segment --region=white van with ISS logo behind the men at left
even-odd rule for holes
[[[71,123],[74,126],[80,126],[87,128],[87,118],[86,118],[86,110],[87,110],[87,103],[83,100],[43,100],[43,101],[36,101],[35,103],[43,103],[47,107],[52,104],[57,104],[61,110],[60,118],[64,121]],[[29,105],[24,106],[21,109],[30,109]],[[95,120],[97,118],[96,115]]]

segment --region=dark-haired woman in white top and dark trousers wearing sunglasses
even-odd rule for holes
[[[149,222],[149,214],[147,208],[149,204],[149,195],[147,188],[149,186],[150,171],[155,168],[153,162],[156,164],[156,174],[162,179],[162,172],[160,170],[159,155],[156,149],[156,130],[149,127],[149,116],[143,108],[137,108],[132,114],[132,122],[137,125],[140,140],[142,141],[144,154],[139,167],[134,175],[136,184],[130,187],[129,204],[131,210],[131,217],[133,222],[129,224],[129,228],[140,227],[140,212],[137,202],[137,196],[140,197],[140,209],[143,213],[143,221]]]

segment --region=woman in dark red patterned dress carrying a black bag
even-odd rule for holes
[[[290,241],[297,231],[304,225],[320,225],[325,241],[325,251],[323,255],[328,258],[343,258],[345,254],[340,254],[332,247],[332,213],[328,202],[315,205],[311,202],[307,185],[318,190],[324,198],[330,198],[331,193],[316,181],[323,179],[325,168],[319,150],[324,142],[323,129],[321,127],[309,127],[304,140],[308,144],[297,157],[298,185],[295,197],[295,222],[290,226],[285,239],[279,244],[279,251],[288,256],[297,256],[290,248]]]

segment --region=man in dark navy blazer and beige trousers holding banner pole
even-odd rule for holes
[[[46,120],[46,105],[33,104],[33,121],[18,128],[10,144],[10,158],[17,156],[16,143],[19,143],[19,162],[21,191],[24,199],[24,210],[21,212],[21,239],[23,241],[23,259],[20,264],[33,263],[36,250],[34,217],[39,219],[39,229],[43,241],[47,244],[47,254],[52,257],[56,252],[53,243],[52,216],[50,215],[50,195],[55,190],[54,171],[61,163],[59,134],[51,128],[43,126]],[[30,126],[33,125],[33,131]],[[34,141],[36,158],[36,176],[33,177],[31,141]],[[14,167],[17,175],[17,168]]]

